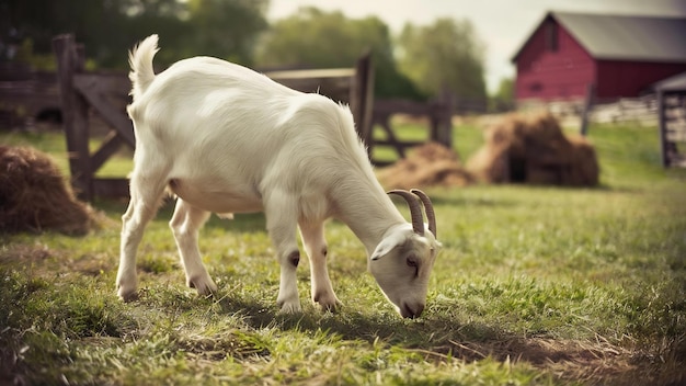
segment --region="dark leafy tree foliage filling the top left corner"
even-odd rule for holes
[[[127,49],[142,33],[176,30],[184,7],[179,0],[5,0],[0,4],[0,42],[49,55],[54,36],[72,33],[91,61],[123,68]]]

